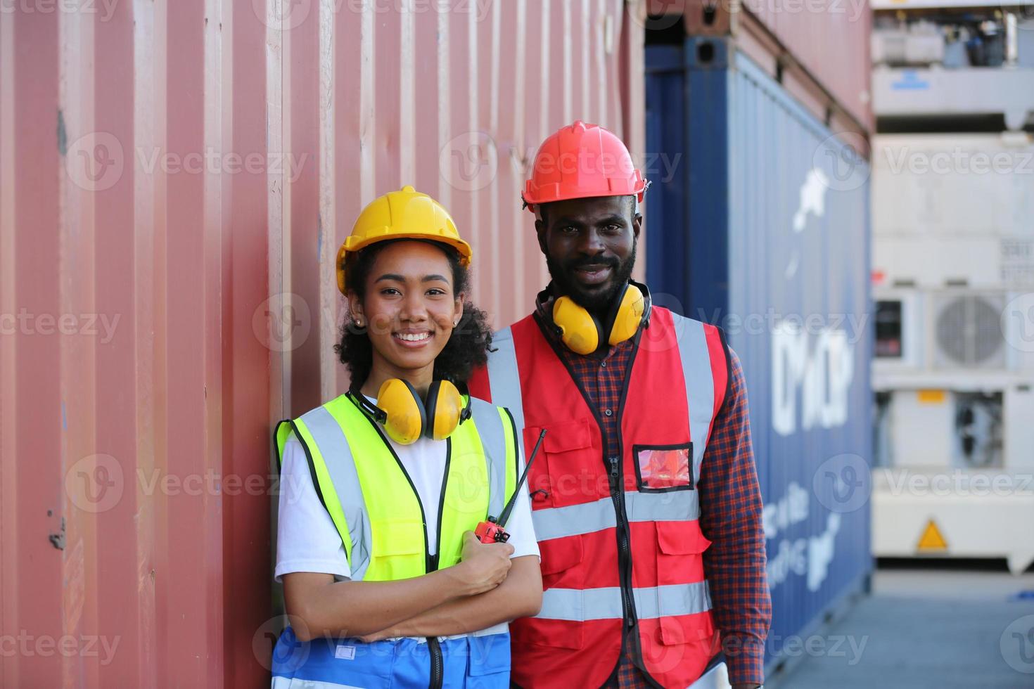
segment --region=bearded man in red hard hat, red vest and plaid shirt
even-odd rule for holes
[[[763,682],[771,617],[747,392],[722,331],[632,280],[646,182],[603,127],[536,155],[522,198],[552,282],[500,332],[472,393],[525,444],[543,604],[511,626],[522,687],[693,684],[724,652]]]

